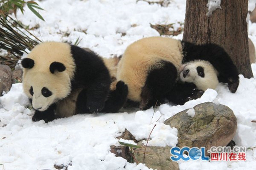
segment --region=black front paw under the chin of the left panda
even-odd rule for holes
[[[35,114],[32,117],[32,121],[37,122],[40,120],[44,120],[45,123],[53,121],[55,119],[55,112],[54,112],[55,108],[56,108],[56,104],[52,104],[45,111],[41,112],[36,110]]]

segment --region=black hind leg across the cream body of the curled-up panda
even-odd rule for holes
[[[155,106],[169,92],[177,79],[176,67],[167,61],[156,63],[155,69],[149,71],[145,85],[141,91],[140,109],[146,110]]]

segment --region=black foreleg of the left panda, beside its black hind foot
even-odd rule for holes
[[[109,75],[100,75],[88,87],[86,91],[86,106],[89,109],[89,113],[97,113],[104,108],[110,83]]]

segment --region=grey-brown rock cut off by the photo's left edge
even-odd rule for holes
[[[7,65],[0,64],[0,96],[9,92],[12,87],[12,70]]]

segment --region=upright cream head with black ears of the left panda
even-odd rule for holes
[[[56,47],[54,45],[54,42],[42,43],[21,61],[23,90],[32,99],[33,108],[38,111],[45,111],[71,92],[70,65],[73,60],[70,60],[70,63],[68,59],[72,58],[72,55],[68,48],[67,53],[63,52],[66,48],[61,44]]]

